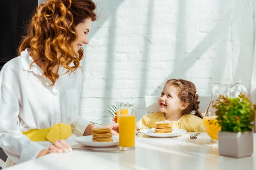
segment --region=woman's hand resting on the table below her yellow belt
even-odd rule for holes
[[[70,145],[67,144],[66,141],[61,139],[52,143],[48,149],[41,150],[37,158],[47,155],[48,153],[63,153],[63,152],[70,152],[70,151],[72,151],[72,148],[70,147]]]

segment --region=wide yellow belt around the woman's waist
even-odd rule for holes
[[[55,142],[55,140],[67,139],[72,135],[71,125],[66,125],[64,123],[58,123],[51,128],[47,129],[31,129],[27,132],[22,132],[31,141],[49,141]]]

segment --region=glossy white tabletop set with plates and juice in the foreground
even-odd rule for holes
[[[55,153],[9,167],[8,170],[256,170],[256,134],[253,156],[235,159],[220,156],[206,133],[190,139],[136,138],[136,149],[122,153],[73,150]]]

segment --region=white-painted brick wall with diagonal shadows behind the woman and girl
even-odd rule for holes
[[[209,95],[213,82],[250,88],[253,0],[95,2],[101,17],[81,63],[80,110],[86,119],[99,119],[116,101],[140,105],[140,119],[144,96],[159,95],[171,78],[194,82],[200,95]]]

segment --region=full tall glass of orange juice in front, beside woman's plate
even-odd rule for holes
[[[135,108],[119,108],[119,111],[119,150],[133,150],[135,148]],[[123,111],[127,114],[122,114]]]

